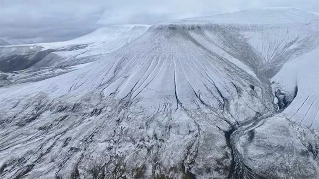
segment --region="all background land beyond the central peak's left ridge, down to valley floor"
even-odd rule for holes
[[[0,47],[0,71],[7,73],[0,86],[41,81],[81,68],[136,39],[147,28],[106,26],[65,42]]]

